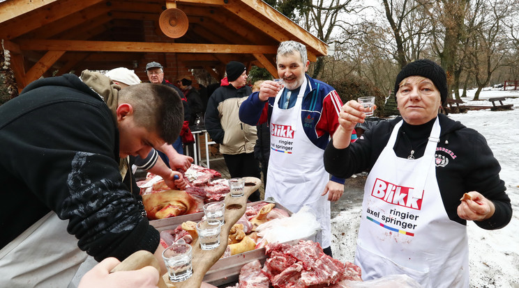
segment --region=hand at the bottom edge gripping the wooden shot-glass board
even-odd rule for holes
[[[114,257],[104,259],[84,274],[78,288],[157,287],[159,275],[153,266],[146,266],[136,271],[110,273],[119,263],[121,262]]]

